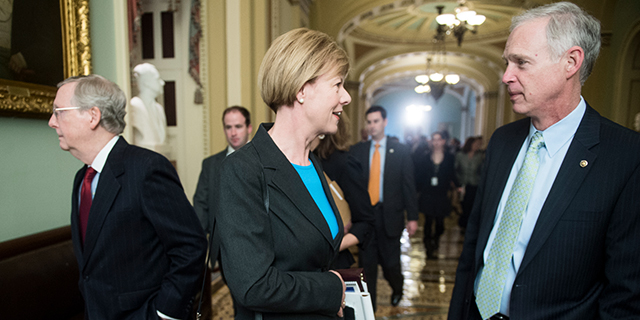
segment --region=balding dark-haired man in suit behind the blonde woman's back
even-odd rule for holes
[[[213,195],[216,192],[213,190],[213,186],[217,180],[217,172],[222,160],[247,144],[253,131],[251,114],[249,110],[241,106],[231,106],[225,109],[222,113],[222,125],[228,145],[224,150],[202,161],[198,187],[193,196],[193,207],[205,233],[211,232],[213,228],[213,208],[216,206],[213,201]],[[215,253],[217,256],[217,249]]]

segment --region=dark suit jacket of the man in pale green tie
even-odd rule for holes
[[[477,319],[468,316],[476,308],[474,281],[529,124],[508,124],[491,138],[456,273],[451,320]],[[511,319],[638,318],[639,150],[640,135],[587,106],[516,275]]]

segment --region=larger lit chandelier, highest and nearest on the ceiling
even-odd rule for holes
[[[444,41],[445,35],[453,33],[458,40],[458,47],[462,46],[462,38],[467,30],[475,34],[478,32],[478,26],[487,19],[467,7],[466,0],[458,0],[455,14],[442,13],[442,10],[444,10],[442,5],[436,6],[436,9],[438,9],[438,16],[436,17],[438,28],[436,29],[435,38]]]

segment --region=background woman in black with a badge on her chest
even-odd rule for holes
[[[427,259],[435,259],[444,233],[444,218],[451,213],[448,192],[457,185],[453,171],[454,156],[447,151],[441,132],[431,135],[431,150],[416,159],[418,208],[425,216],[424,246]],[[435,225],[435,230],[434,230]]]

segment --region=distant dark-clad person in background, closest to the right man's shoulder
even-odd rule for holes
[[[482,137],[469,137],[464,142],[462,150],[456,154],[456,177],[462,185],[460,187],[462,215],[458,219],[458,225],[462,232],[467,228],[467,221],[471,209],[473,209],[473,202],[480,182],[482,162],[484,161],[484,153],[480,148],[482,148]]]

